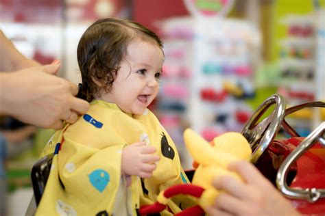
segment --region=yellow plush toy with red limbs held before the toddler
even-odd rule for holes
[[[213,204],[213,200],[219,195],[213,187],[213,178],[221,175],[231,175],[234,178],[241,177],[227,170],[232,161],[249,161],[252,149],[248,141],[241,133],[228,132],[208,143],[204,138],[191,129],[184,131],[184,142],[193,159],[199,164],[195,170],[191,185],[174,185],[160,192],[157,202],[151,206],[143,206],[141,215],[158,213],[165,209],[169,198],[173,195],[189,194],[198,198],[198,206],[186,208],[176,215],[204,215],[203,209]]]

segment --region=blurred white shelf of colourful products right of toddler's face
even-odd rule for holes
[[[182,145],[184,128],[191,126],[212,140],[226,131],[241,131],[252,113],[245,101],[255,97],[261,34],[248,21],[224,18],[221,13],[231,3],[204,12],[197,5],[193,12],[193,5],[187,5],[193,16],[160,23],[165,64],[157,107],[162,124],[180,148],[184,167],[191,168]]]

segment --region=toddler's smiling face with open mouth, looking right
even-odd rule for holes
[[[163,51],[149,42],[134,40],[112,85],[112,91],[101,99],[116,103],[125,113],[141,115],[159,91]]]

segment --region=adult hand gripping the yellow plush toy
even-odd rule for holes
[[[206,208],[209,215],[299,215],[290,202],[251,163],[237,161],[228,170],[237,172],[244,182],[231,176],[215,178],[213,185],[225,191]]]

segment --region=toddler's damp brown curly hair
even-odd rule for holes
[[[82,75],[78,96],[91,102],[99,96],[100,87],[112,90],[119,65],[127,55],[128,44],[134,39],[152,42],[163,50],[163,42],[143,25],[120,18],[103,18],[93,23],[82,35],[77,46],[77,60]]]

